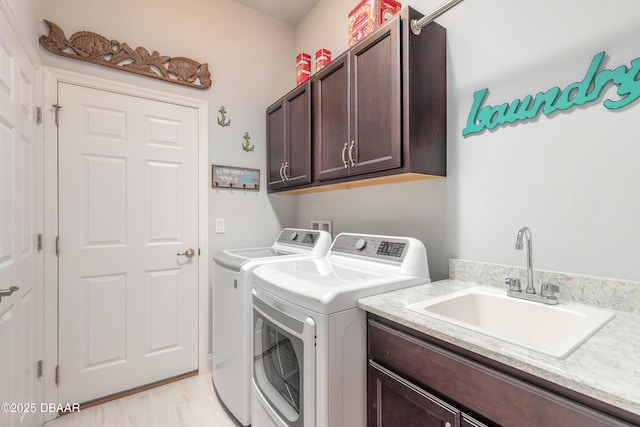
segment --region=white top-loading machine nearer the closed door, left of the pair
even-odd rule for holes
[[[269,247],[228,249],[214,257],[212,316],[212,378],[218,396],[231,414],[251,424],[251,272],[282,260],[326,255],[326,231],[285,228]]]

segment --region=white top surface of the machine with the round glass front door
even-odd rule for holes
[[[329,258],[263,265],[253,273],[256,287],[321,314],[355,308],[360,298],[428,282],[375,262],[336,263]]]

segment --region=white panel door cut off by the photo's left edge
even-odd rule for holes
[[[42,153],[36,72],[0,12],[0,426],[42,423]],[[6,406],[9,404],[10,406]]]

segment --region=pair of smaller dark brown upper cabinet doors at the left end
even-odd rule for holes
[[[267,189],[311,183],[311,82],[267,108]]]

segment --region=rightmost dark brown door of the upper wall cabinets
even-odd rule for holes
[[[350,51],[352,175],[402,166],[399,17],[385,27]]]

